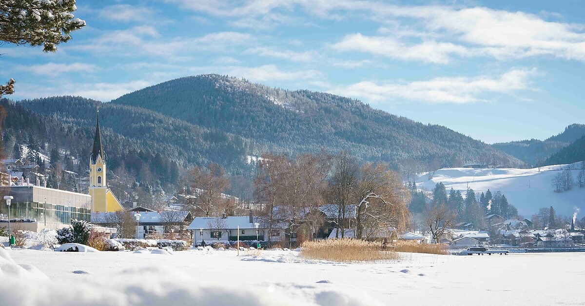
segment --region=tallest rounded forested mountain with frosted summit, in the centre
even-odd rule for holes
[[[483,142],[439,125],[397,117],[351,98],[282,90],[208,74],[167,81],[111,104],[147,108],[212,130],[252,139],[247,154],[348,149],[362,160],[394,165],[459,165],[479,159],[520,165]],[[273,144],[273,147],[269,146]],[[431,167],[432,168],[432,167]]]

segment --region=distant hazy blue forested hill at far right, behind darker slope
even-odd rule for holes
[[[571,124],[562,133],[546,140],[501,142],[491,146],[531,166],[553,165],[547,160],[551,155],[583,136],[585,136],[585,124]]]

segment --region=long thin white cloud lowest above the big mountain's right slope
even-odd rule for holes
[[[512,94],[528,90],[536,69],[512,69],[498,77],[438,77],[426,81],[377,83],[362,81],[349,86],[334,87],[329,93],[362,98],[367,103],[395,100],[425,103],[473,103],[484,101],[484,94]]]

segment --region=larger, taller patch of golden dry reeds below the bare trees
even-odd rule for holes
[[[382,251],[381,243],[358,239],[326,239],[302,243],[301,256],[341,262],[398,260],[400,254]]]

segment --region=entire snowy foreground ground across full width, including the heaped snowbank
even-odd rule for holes
[[[0,250],[0,304],[582,305],[585,301],[581,284],[585,253],[404,254],[397,262],[361,264],[304,260],[298,254]],[[25,269],[11,263],[11,258]]]

